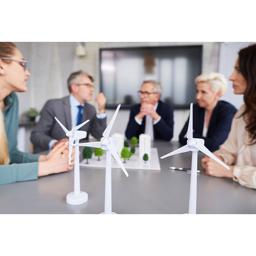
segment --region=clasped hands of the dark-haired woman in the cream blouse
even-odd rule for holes
[[[223,161],[223,158],[220,156],[216,156],[218,159]],[[210,157],[204,157],[202,159],[202,166],[206,171],[207,175],[215,176],[215,177],[233,177],[233,169],[234,166],[229,166],[230,170],[227,170],[224,166],[217,163],[215,160],[213,160]]]

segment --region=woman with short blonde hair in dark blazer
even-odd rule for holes
[[[193,105],[193,137],[204,139],[204,145],[215,151],[224,143],[230,132],[237,109],[230,103],[219,100],[227,91],[227,80],[220,73],[197,76],[197,104]],[[179,142],[186,144],[189,118],[179,135]]]

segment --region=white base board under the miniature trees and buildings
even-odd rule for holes
[[[135,170],[150,170],[150,171],[160,171],[160,162],[158,157],[157,148],[151,148],[151,157],[148,159],[148,161],[145,163],[143,159],[139,158],[139,148],[136,148],[135,154],[131,156],[131,158],[128,160],[121,159],[123,165],[125,166],[125,169],[135,169]],[[80,162],[80,166],[82,167],[96,167],[96,168],[106,168],[106,154],[103,154],[102,157],[100,157],[100,160],[98,161],[98,157],[96,157],[93,153],[93,156],[91,159],[88,159],[89,163],[86,163],[86,159],[82,160]],[[120,169],[120,166],[118,163],[114,160],[112,157],[112,168],[118,168]]]

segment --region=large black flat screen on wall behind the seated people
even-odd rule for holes
[[[196,76],[202,70],[202,45],[100,49],[100,90],[106,108],[130,108],[140,102],[143,81],[162,85],[161,100],[175,108],[195,102]]]

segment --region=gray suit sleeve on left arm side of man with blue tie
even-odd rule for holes
[[[49,149],[49,142],[55,138],[50,136],[52,126],[56,122],[54,119],[55,113],[53,111],[53,101],[49,100],[41,110],[41,117],[38,123],[35,125],[35,129],[32,131],[30,140],[41,151]]]

